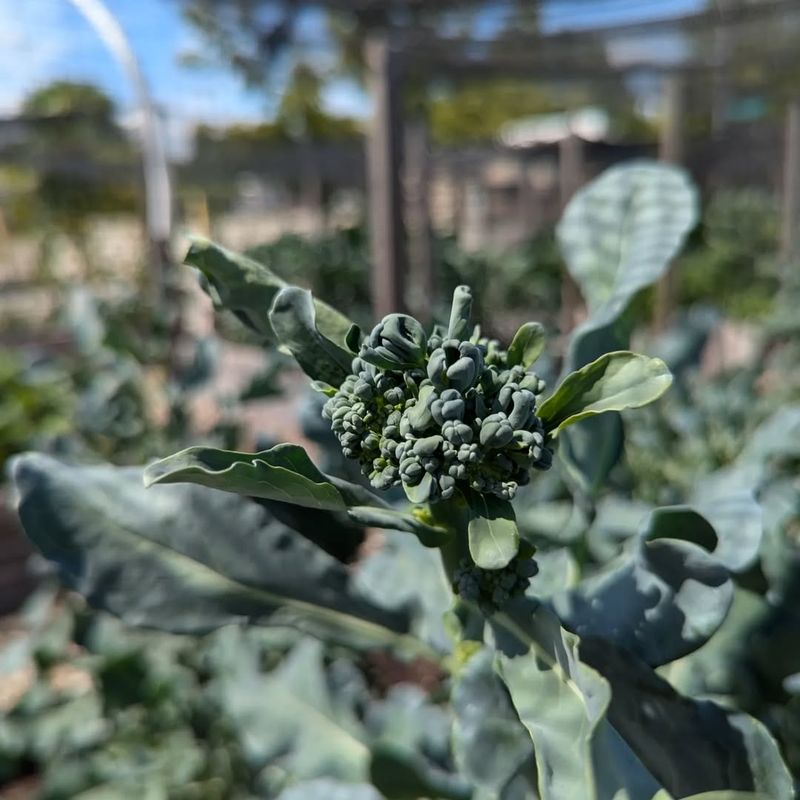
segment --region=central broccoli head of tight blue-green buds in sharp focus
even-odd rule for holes
[[[429,338],[413,317],[385,317],[325,404],[342,452],[375,488],[402,484],[415,502],[468,488],[511,499],[531,469],[550,467],[536,415],[544,383],[509,368],[505,351],[477,329],[469,341],[458,338],[470,303],[460,287],[450,328]]]

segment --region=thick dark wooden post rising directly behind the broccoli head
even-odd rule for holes
[[[401,170],[400,76],[391,32],[367,36],[364,56],[372,98],[372,123],[367,141],[367,204],[369,207],[372,307],[376,319],[402,311],[406,274]]]

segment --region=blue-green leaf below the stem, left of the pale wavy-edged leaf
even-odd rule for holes
[[[492,668],[488,648],[455,677],[452,691],[453,750],[462,775],[497,794],[533,757],[530,736]]]

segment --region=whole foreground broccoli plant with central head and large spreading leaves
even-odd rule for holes
[[[676,253],[693,202],[683,173],[649,164],[575,199],[559,235],[589,317],[552,390],[534,371],[543,328],[526,323],[507,345],[482,336],[466,286],[446,325],[397,313],[363,334],[267,267],[195,242],[187,260],[215,299],[326,396],[323,417],[365,481],[325,474],[289,443],[189,448],[149,465],[148,489],[28,455],[14,469],[26,530],[90,603],[129,624],[259,625],[433,666],[437,689],[413,712],[356,708],[341,676],[331,698],[318,678],[303,683],[299,655],[269,703],[258,683],[240,687],[242,724],[263,717],[248,741],[283,776],[261,796],[788,800],[791,777],[760,723],[657,672],[728,614],[747,560],[729,520],[696,504],[651,509],[617,556],[574,579],[564,548],[537,550],[514,510],[521,487],[556,469],[591,502],[620,455],[619,412],[669,387],[662,361],[619,346],[620,320]],[[298,535],[254,526],[264,502],[294,507]],[[187,514],[193,524],[179,524]],[[393,533],[344,567],[303,533],[343,517]],[[449,741],[430,735],[442,719]]]

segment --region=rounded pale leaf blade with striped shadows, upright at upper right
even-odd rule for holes
[[[610,321],[654,283],[697,219],[688,174],[657,162],[612,167],[570,201],[557,237],[590,316]]]

